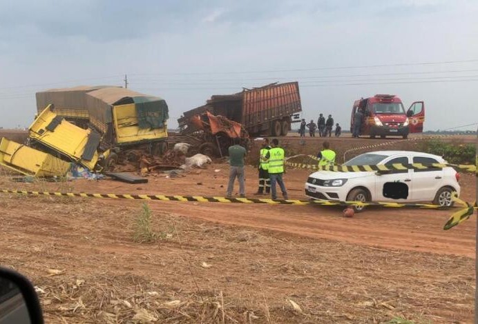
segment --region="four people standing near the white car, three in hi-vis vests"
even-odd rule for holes
[[[322,144],[323,150],[318,152],[318,166],[334,165],[336,153],[330,150],[329,142],[325,141]],[[229,147],[229,183],[227,185],[227,198],[232,197],[234,189],[234,182],[236,178],[239,182],[239,195],[245,198],[245,156],[247,150],[240,145],[239,139],[234,139],[234,145]],[[255,195],[269,195],[272,199],[277,199],[278,183],[282,191],[284,199],[289,199],[287,188],[283,179],[285,174],[285,151],[280,148],[278,139],[272,139],[269,144],[269,139],[262,141],[262,148],[259,151],[258,162],[258,176],[259,186]]]

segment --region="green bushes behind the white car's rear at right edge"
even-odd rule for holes
[[[443,156],[449,163],[474,164],[475,144],[448,143],[437,140],[423,143],[423,152]]]

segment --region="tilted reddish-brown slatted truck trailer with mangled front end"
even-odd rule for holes
[[[184,117],[178,119],[180,128],[187,133],[195,131],[187,129],[189,120],[206,111],[241,123],[254,136],[285,136],[290,124],[296,122],[293,115],[302,111],[298,83],[274,83],[236,94],[214,95],[206,105],[184,112]]]

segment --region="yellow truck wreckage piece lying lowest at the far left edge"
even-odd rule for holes
[[[70,170],[70,163],[6,138],[0,141],[0,164],[21,174],[40,177],[65,176]]]

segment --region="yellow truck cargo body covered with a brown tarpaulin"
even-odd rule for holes
[[[159,143],[167,138],[168,106],[159,97],[111,86],[37,92],[37,110],[52,112],[102,135],[102,148]]]

